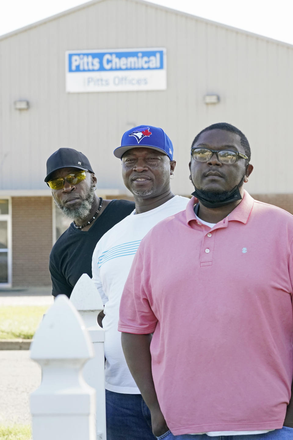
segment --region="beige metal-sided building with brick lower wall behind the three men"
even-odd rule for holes
[[[71,88],[68,74],[83,78],[91,67],[72,73],[70,54],[108,54],[106,71],[111,56],[130,49],[162,51],[164,66],[154,66],[166,82],[127,86],[135,66],[121,62],[116,90],[103,89],[102,80],[94,90]],[[64,225],[43,182],[48,156],[59,147],[81,150],[99,195],[129,197],[112,151],[135,125],[170,136],[172,189],[181,195],[192,191],[188,161],[197,132],[214,122],[236,125],[255,167],[246,189],[293,213],[293,46],[143,0],[93,0],[0,37],[0,59],[0,286],[50,284],[48,255]]]

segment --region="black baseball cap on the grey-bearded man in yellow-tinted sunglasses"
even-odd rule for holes
[[[61,168],[77,168],[94,172],[88,158],[83,153],[73,148],[59,148],[47,160],[47,176],[44,181],[49,182],[54,171]]]

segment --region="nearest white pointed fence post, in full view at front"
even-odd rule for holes
[[[94,356],[83,320],[58,295],[36,330],[30,357],[42,367],[42,382],[30,396],[33,440],[95,440],[95,391],[82,377]]]

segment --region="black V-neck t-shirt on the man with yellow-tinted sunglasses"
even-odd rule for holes
[[[70,224],[50,253],[49,269],[54,297],[59,293],[70,297],[73,287],[83,273],[92,278],[91,260],[96,244],[134,208],[134,202],[112,200],[88,231],[80,231],[73,223]]]

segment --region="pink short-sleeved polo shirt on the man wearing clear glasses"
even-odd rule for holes
[[[186,211],[141,241],[119,330],[153,333],[174,435],[282,428],[293,374],[293,216],[253,200],[212,229]]]

